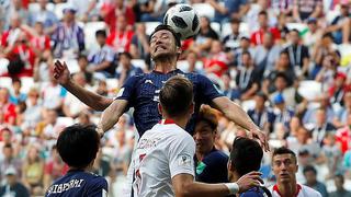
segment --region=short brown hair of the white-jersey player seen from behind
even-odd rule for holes
[[[186,78],[174,76],[160,91],[160,104],[169,116],[184,115],[193,103],[193,84]]]

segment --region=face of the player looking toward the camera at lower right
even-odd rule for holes
[[[278,154],[273,158],[272,169],[278,183],[284,184],[295,181],[297,167],[296,161],[292,154]]]

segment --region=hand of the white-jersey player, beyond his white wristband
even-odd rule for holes
[[[250,172],[241,176],[236,183],[239,186],[239,193],[247,192],[251,187],[258,187],[263,183],[263,179],[260,177],[262,173],[260,172]]]

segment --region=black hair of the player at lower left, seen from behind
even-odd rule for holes
[[[72,167],[84,169],[97,157],[100,137],[94,126],[76,124],[60,132],[56,147],[65,163]]]

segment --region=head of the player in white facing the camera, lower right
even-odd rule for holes
[[[272,170],[278,184],[296,183],[296,154],[285,147],[276,149],[272,155]]]

